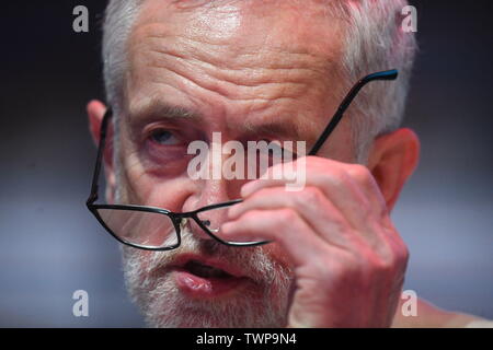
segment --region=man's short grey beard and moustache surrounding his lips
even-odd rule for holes
[[[241,293],[220,300],[192,300],[167,270],[180,254],[221,257],[253,279]],[[182,244],[169,252],[123,247],[125,283],[150,327],[285,327],[293,271],[261,247],[228,247],[182,232]]]

